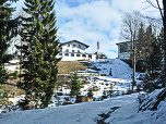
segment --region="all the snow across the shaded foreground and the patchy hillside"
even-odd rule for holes
[[[63,96],[59,96],[59,98],[52,97],[52,103],[49,104],[48,108],[0,113],[0,124],[96,124],[97,121],[104,120],[99,114],[108,114],[109,117],[105,119],[104,122],[110,124],[166,124],[165,101],[159,102],[156,111],[139,111],[140,104],[138,100],[142,95],[141,99],[144,100],[143,103],[149,99],[153,99],[152,103],[154,103],[156,96],[163,89],[156,89],[149,95],[144,92],[140,92],[140,95],[137,92],[122,96],[122,92],[127,92],[129,85],[131,86],[132,69],[118,59],[88,62],[92,63],[91,69],[78,71],[79,76],[84,76],[87,78],[87,82],[90,82],[90,84],[84,85],[84,88],[81,88],[81,95],[86,95],[87,91],[85,90],[97,86],[100,89],[93,91],[93,94],[96,99],[99,99],[103,91],[110,89],[110,84],[112,84],[115,97],[103,101],[83,103],[74,103],[75,97],[73,97],[69,98],[69,101],[74,104],[59,106],[58,103],[62,104],[66,98],[69,97],[67,95],[70,94],[70,89],[62,87]],[[8,66],[5,67],[8,69]],[[15,65],[9,67],[14,71]],[[110,69],[112,76],[109,75]],[[105,74],[105,76],[100,76],[100,74]],[[137,77],[139,77],[139,75],[140,73],[137,73]],[[141,80],[137,79],[138,84],[140,82]],[[108,86],[106,84],[108,84]],[[119,91],[120,96],[116,96],[117,91]],[[9,101],[16,104],[17,101],[23,98],[24,96],[17,96],[10,98]],[[112,111],[114,107],[120,108]]]

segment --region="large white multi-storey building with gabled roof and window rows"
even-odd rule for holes
[[[60,44],[61,52],[57,58],[62,58],[61,61],[76,61],[76,60],[96,60],[95,53],[86,53],[90,47],[81,41],[71,40]]]

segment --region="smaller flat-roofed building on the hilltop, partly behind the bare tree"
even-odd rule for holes
[[[124,41],[116,44],[118,46],[118,59],[129,60],[130,59],[130,50],[132,49],[131,41]]]

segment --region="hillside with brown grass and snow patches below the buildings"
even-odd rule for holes
[[[17,65],[5,66],[5,69],[8,69],[9,71],[14,71],[14,66]],[[56,84],[55,95],[52,96],[52,103],[50,104],[50,107],[63,104],[64,102],[69,101],[71,103],[75,102],[75,97],[70,98],[70,84],[72,76],[71,71],[75,71],[78,73],[79,80],[82,84],[82,88],[80,91],[81,95],[87,96],[88,89],[91,88],[93,91],[94,100],[100,100],[102,96],[104,95],[104,91],[107,97],[110,97],[121,96],[128,94],[131,90],[132,69],[118,59],[82,62],[60,62],[58,63],[58,66],[59,71],[61,72],[58,75],[59,80]],[[109,75],[110,69],[111,75]],[[66,74],[67,72],[62,73],[62,71],[68,71],[70,74]],[[12,79],[12,83],[15,82],[16,84],[17,80]],[[137,82],[138,84],[140,83],[140,80]],[[9,90],[10,96],[9,100],[5,102],[10,102],[10,104],[16,106],[19,100],[23,99],[24,91],[17,89],[16,86],[7,85],[5,88]],[[134,89],[135,88],[137,87],[134,87]],[[4,112],[9,111],[7,107],[2,107],[1,110],[4,110]]]

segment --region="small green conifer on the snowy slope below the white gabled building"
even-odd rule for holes
[[[71,79],[71,95],[80,94],[81,83],[79,80],[78,74],[74,73]]]

